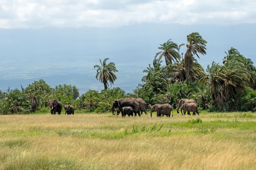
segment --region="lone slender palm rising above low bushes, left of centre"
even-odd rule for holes
[[[115,67],[115,63],[110,62],[106,63],[109,58],[105,58],[103,62],[100,61],[100,65],[95,65],[94,69],[97,68],[97,74],[96,78],[98,79],[99,77],[99,82],[104,84],[104,89],[108,89],[108,81],[111,84],[114,84],[114,81],[117,79],[117,76],[115,75],[115,72],[118,72],[117,68]]]

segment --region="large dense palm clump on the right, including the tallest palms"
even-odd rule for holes
[[[206,54],[207,41],[199,33],[191,33],[187,41],[184,58],[179,53],[184,44],[178,46],[171,39],[160,44],[162,51],[156,53],[153,66],[149,64],[144,70],[147,74],[135,95],[148,104],[175,104],[181,98],[193,98],[205,109],[254,111],[256,68],[251,59],[231,48],[225,52],[223,64],[213,62],[205,72],[195,56]]]

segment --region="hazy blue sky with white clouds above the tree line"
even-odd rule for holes
[[[186,44],[192,32],[208,42],[207,55],[197,58],[204,68],[231,47],[256,65],[255,7],[255,0],[0,0],[0,90],[11,79],[28,79],[27,86],[71,73],[87,77],[83,91],[101,90],[93,66],[108,57],[119,70],[113,86],[130,92],[159,44]]]

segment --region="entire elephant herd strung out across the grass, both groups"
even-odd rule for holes
[[[56,112],[58,113],[58,115],[61,114],[62,103],[59,102],[57,99],[49,99],[48,105],[52,115],[55,115]],[[112,107],[109,109],[112,109],[112,115],[115,115],[114,110],[117,110],[117,115],[119,115],[119,113],[121,112],[122,117],[125,117],[126,115],[130,117],[133,116],[133,113],[135,116],[137,116],[137,114],[141,116],[143,112],[148,115],[146,108],[146,102],[144,101],[144,99],[128,97],[122,99],[115,99],[112,103]],[[64,109],[65,115],[74,115],[75,108],[73,106],[64,105]],[[188,115],[190,115],[190,112],[193,112],[193,115],[196,115],[195,113],[199,115],[198,105],[196,104],[194,99],[180,99],[177,104],[177,108],[175,109],[177,110],[177,113],[179,113],[179,109],[181,111],[181,114],[183,110],[184,115],[186,114],[186,112],[188,112]],[[150,117],[152,117],[153,112],[157,113],[157,117],[163,117],[164,115],[170,117],[172,110],[173,107],[170,104],[155,104],[150,109]]]

